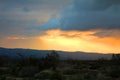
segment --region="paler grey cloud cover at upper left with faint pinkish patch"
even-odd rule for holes
[[[40,25],[59,8],[71,0],[0,0],[0,36],[37,36],[38,30],[26,30],[27,26]]]

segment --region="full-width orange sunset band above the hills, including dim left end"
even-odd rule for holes
[[[95,35],[100,30],[63,31],[48,30],[40,36],[12,36],[2,38],[1,47],[30,48],[39,50],[83,51],[97,53],[120,53],[119,31],[104,31],[110,36]],[[118,33],[118,34],[117,34]],[[100,34],[101,35],[101,34]]]

